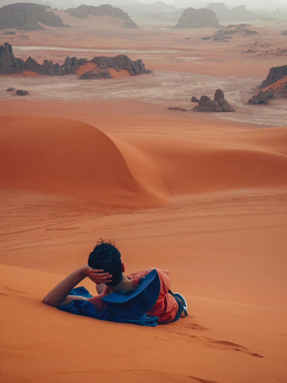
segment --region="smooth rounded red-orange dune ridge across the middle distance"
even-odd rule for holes
[[[6,116],[2,182],[20,190],[144,205],[163,203],[175,191],[282,187],[286,139],[287,128],[272,128],[229,133],[228,139],[140,137],[125,143],[79,121]]]

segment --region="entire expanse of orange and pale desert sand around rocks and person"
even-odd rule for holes
[[[212,28],[80,21],[0,43],[40,63],[126,54],[153,73],[0,77],[1,380],[284,383],[286,100],[247,102],[286,57],[241,52],[256,39],[281,49],[287,28],[227,44],[199,39]],[[235,113],[189,111],[217,88]],[[42,303],[99,238],[127,273],[169,270],[189,316],[148,328]]]

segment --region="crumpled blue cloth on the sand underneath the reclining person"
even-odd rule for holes
[[[85,296],[86,298],[92,297],[89,291],[86,290],[83,286],[74,288],[68,295],[75,295],[75,297]],[[100,313],[97,313],[95,306],[91,302],[77,298],[72,300],[68,305],[58,306],[58,309],[76,315],[90,316],[91,318],[100,319],[101,321],[131,323],[138,324],[139,326],[155,327],[157,326],[158,321],[157,316],[147,316],[146,314],[133,318],[124,318],[123,316],[113,313],[109,310],[103,310]]]

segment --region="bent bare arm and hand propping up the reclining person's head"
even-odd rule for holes
[[[57,284],[47,295],[44,296],[43,302],[50,306],[62,306],[70,304],[74,299],[87,300],[85,296],[68,295],[68,293],[84,278],[89,277],[95,283],[108,283],[111,282],[112,275],[103,273],[104,270],[95,270],[88,265],[78,268],[72,272],[68,277],[63,279]]]

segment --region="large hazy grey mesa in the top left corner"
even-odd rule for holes
[[[38,21],[47,26],[64,27],[60,16],[54,12],[46,10],[47,5],[31,3],[15,3],[4,5],[0,8],[0,29],[16,28],[24,31],[33,29],[44,29],[38,24]]]

